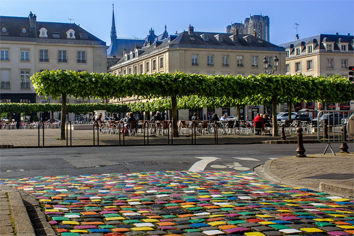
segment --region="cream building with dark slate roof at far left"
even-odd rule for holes
[[[2,103],[56,102],[36,96],[30,80],[36,72],[107,71],[106,43],[75,23],[39,22],[32,13],[28,17],[1,16],[0,22]],[[68,98],[68,103],[80,101]],[[15,119],[19,121],[19,117]]]

